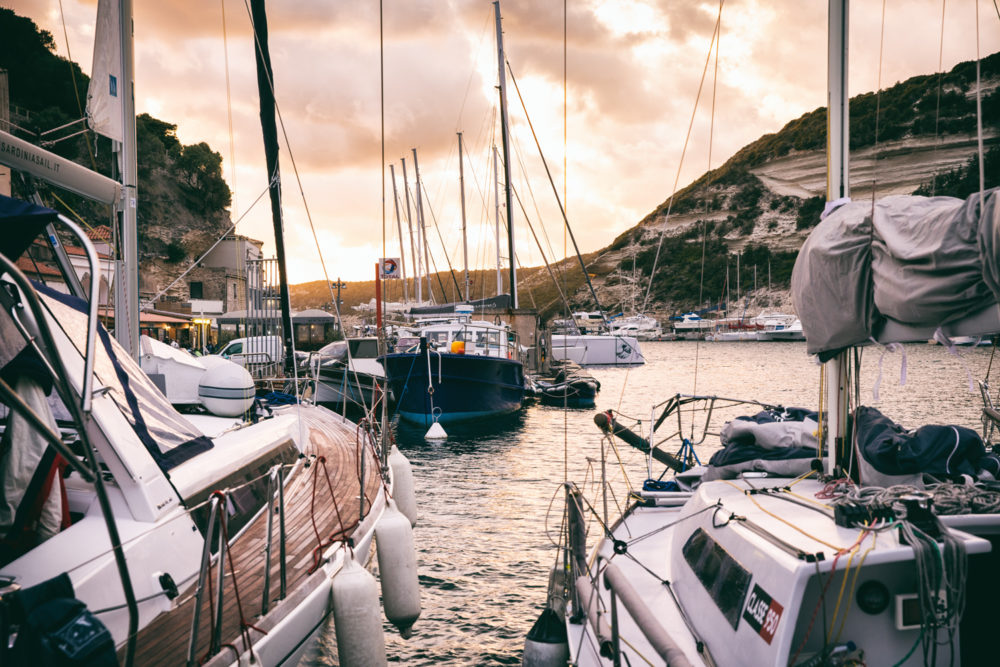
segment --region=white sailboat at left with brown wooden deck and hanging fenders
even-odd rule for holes
[[[263,3],[252,5],[269,70]],[[120,10],[99,24],[121,30],[130,65],[130,3]],[[130,100],[129,71],[116,79]],[[267,99],[273,111],[273,98],[261,97],[262,115]],[[130,105],[122,115],[127,127]],[[123,144],[134,145],[134,130]],[[23,151],[15,169],[135,207],[127,179],[123,187],[30,144]],[[178,413],[128,338],[99,324],[100,271],[87,235],[7,197],[0,224],[11,230],[0,244],[0,663],[294,664],[333,616],[342,664],[385,664],[365,568],[376,534],[386,616],[404,636],[419,616],[415,505],[398,450],[315,405],[255,409],[249,373],[223,360],[199,382],[205,410]],[[89,292],[73,289],[68,274],[69,295],[17,268],[55,225],[84,249]],[[133,310],[116,330],[137,332],[137,322]]]

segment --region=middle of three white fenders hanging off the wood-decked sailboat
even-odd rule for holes
[[[420,618],[417,553],[410,520],[393,500],[389,500],[389,506],[375,525],[375,548],[385,617],[399,628],[403,639],[409,639],[413,624]]]

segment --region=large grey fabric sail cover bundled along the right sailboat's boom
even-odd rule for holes
[[[893,196],[854,202],[819,223],[799,251],[792,299],[821,359],[871,338],[983,335],[1000,321],[1000,191],[967,200]],[[984,317],[983,314],[986,313]],[[986,330],[989,329],[989,330]]]

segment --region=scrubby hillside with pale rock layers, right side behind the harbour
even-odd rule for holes
[[[993,187],[1000,185],[1000,53],[985,58],[981,71],[986,186]],[[853,98],[852,197],[871,199],[873,182],[877,197],[977,190],[975,94],[975,63],[965,62],[940,77],[917,76]],[[596,253],[591,272],[604,305],[627,309],[635,292],[644,293],[662,234],[647,311],[671,314],[724,294],[735,298],[737,281],[743,293],[758,286],[751,310],[790,307],[782,291],[826,200],[825,123],[819,108],[745,146]]]

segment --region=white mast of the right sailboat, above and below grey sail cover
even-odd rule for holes
[[[849,0],[830,0],[827,54],[827,201],[849,194],[847,35]],[[824,364],[827,396],[826,472],[833,472],[847,432],[847,362],[841,352]],[[820,406],[822,409],[823,406]]]

